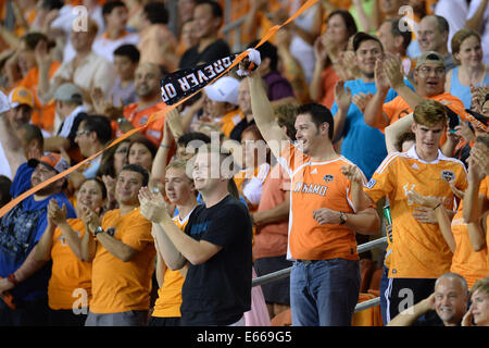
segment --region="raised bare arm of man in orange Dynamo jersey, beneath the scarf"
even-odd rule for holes
[[[275,158],[279,158],[285,145],[288,141],[287,134],[280,128],[274,109],[266,96],[262,77],[254,71],[249,77],[251,110],[260,133],[265,138]]]

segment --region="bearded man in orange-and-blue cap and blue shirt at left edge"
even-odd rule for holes
[[[16,174],[11,194],[15,198],[67,169],[58,153],[49,153],[40,160],[27,161],[16,132],[0,114],[0,139],[12,170]],[[22,163],[18,165],[18,163]],[[0,295],[10,291],[15,310],[0,301],[0,325],[45,325],[48,313],[48,281],[50,264],[41,266],[35,260],[36,244],[47,226],[47,207],[54,198],[65,204],[67,217],[75,217],[75,210],[62,191],[66,179],[61,178],[12,208],[0,222]]]

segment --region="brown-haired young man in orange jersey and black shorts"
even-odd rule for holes
[[[435,100],[424,100],[414,110],[412,132],[415,145],[406,152],[389,154],[374,173],[364,191],[369,202],[386,196],[392,215],[387,321],[404,308],[428,297],[438,276],[450,271],[452,252],[438,225],[415,219],[416,208],[409,194],[437,197],[452,210],[454,195],[467,187],[462,162],[444,157],[439,141],[447,128],[447,111]],[[439,208],[439,207],[437,207]]]

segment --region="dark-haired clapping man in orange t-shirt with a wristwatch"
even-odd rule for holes
[[[118,209],[101,220],[85,209],[87,229],[95,238],[82,243],[82,258],[92,261],[92,300],[86,326],[139,326],[148,320],[154,245],[151,222],[139,212],[138,192],[149,181],[138,164],[126,164],[118,174]]]

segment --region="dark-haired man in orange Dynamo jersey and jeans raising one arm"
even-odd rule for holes
[[[256,125],[291,178],[287,253],[296,260],[290,275],[292,325],[351,325],[360,290],[355,232],[377,233],[379,217],[372,206],[361,206],[350,195],[342,167],[351,162],[333,148],[334,121],[327,108],[300,107],[297,142],[291,142],[256,72],[250,91]]]

